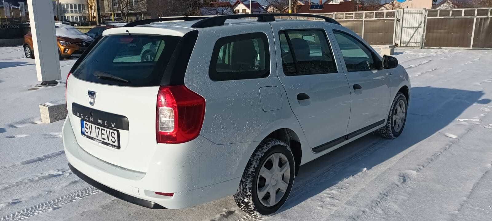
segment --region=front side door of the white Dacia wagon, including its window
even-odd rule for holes
[[[348,138],[385,123],[390,96],[389,77],[378,67],[379,58],[358,36],[333,29],[342,69],[351,92]]]

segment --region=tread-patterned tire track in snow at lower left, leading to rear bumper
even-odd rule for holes
[[[29,208],[20,210],[18,212],[12,213],[10,215],[4,216],[0,218],[0,221],[21,221],[32,216],[35,216],[40,213],[44,213],[47,211],[52,211],[62,207],[63,205],[85,198],[87,196],[93,195],[95,193],[99,193],[100,191],[95,187],[87,187],[85,189],[76,191],[74,193],[70,193],[54,200],[50,200],[44,203],[39,203],[37,205],[31,206]]]

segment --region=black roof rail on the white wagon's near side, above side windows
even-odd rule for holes
[[[321,15],[312,15],[312,14],[299,14],[299,13],[265,13],[265,14],[239,14],[239,15],[221,15],[214,17],[204,18],[191,26],[191,28],[208,28],[214,26],[223,26],[225,20],[227,19],[239,19],[239,18],[255,18],[258,17],[258,22],[273,22],[275,21],[275,17],[278,16],[289,16],[289,17],[311,17],[311,18],[320,18],[324,19],[325,22],[333,23],[340,25],[335,19],[330,17],[325,17]]]

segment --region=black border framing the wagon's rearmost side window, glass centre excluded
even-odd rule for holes
[[[220,48],[227,43],[260,38],[263,40],[263,46],[265,47],[265,70],[261,71],[241,71],[241,72],[217,72],[217,58]],[[263,72],[263,73],[261,73]],[[268,42],[268,36],[264,32],[253,32],[246,34],[237,34],[225,36],[217,39],[215,41],[214,50],[212,51],[212,58],[210,60],[209,66],[209,78],[212,81],[234,81],[234,80],[245,80],[245,79],[258,79],[267,78],[270,76],[270,44]]]

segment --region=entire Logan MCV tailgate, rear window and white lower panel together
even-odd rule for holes
[[[156,148],[157,92],[169,83],[164,72],[182,38],[108,35],[83,58],[66,91],[68,117],[82,149],[114,165],[147,170]]]

